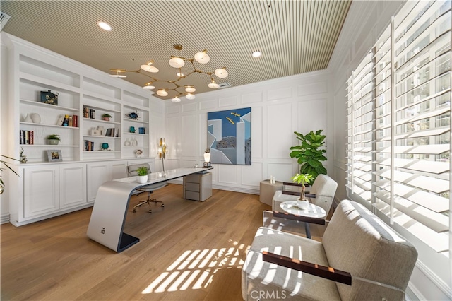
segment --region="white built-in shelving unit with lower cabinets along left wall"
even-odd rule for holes
[[[8,180],[11,223],[24,225],[93,206],[97,188],[126,177],[127,165],[153,167],[148,91],[17,37],[1,37],[8,48],[8,154],[19,158],[23,150],[28,160],[13,163],[20,178]],[[48,90],[58,95],[57,104],[40,101],[41,91]],[[84,108],[95,114],[84,117]],[[132,112],[137,119],[129,117]],[[40,120],[30,122],[31,114]],[[112,117],[102,120],[102,114]],[[59,124],[65,115],[77,116],[78,124]],[[107,129],[117,135],[105,136]],[[32,131],[32,144],[20,140],[25,131]],[[61,137],[58,145],[49,145],[50,134]],[[93,142],[90,151],[85,141]],[[60,151],[62,160],[49,162],[51,150]]]

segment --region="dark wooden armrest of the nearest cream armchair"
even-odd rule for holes
[[[292,268],[321,278],[352,285],[352,275],[345,271],[336,270],[335,268],[311,264],[307,261],[301,261],[299,259],[293,259],[266,251],[262,252],[262,259],[270,264],[278,264],[278,266],[285,266],[286,268]]]

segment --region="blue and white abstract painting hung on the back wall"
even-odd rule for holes
[[[251,107],[207,113],[210,163],[251,165]]]

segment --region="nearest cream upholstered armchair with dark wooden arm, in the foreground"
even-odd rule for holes
[[[258,228],[242,268],[244,300],[404,300],[415,247],[364,206],[339,203],[322,242]]]

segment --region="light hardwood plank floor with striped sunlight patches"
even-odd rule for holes
[[[131,199],[124,232],[141,241],[121,253],[86,237],[91,208],[1,225],[1,300],[242,300],[246,248],[270,206],[215,189],[188,201],[176,184],[153,196],[165,208],[132,213]]]

